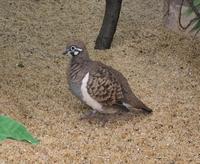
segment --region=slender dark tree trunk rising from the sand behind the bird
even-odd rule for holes
[[[106,0],[103,24],[96,39],[95,49],[109,49],[117,28],[122,0]]]

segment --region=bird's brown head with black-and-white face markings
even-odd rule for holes
[[[82,41],[72,41],[67,44],[66,49],[63,52],[63,55],[66,54],[72,57],[83,57],[87,56],[87,51]]]

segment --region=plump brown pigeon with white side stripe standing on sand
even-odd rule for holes
[[[135,96],[122,73],[100,61],[90,59],[84,42],[67,43],[63,55],[71,57],[68,69],[68,85],[73,95],[92,108],[95,113],[113,114],[119,110],[141,109],[151,113]]]

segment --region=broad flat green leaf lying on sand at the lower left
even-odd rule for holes
[[[0,115],[0,141],[5,139],[27,141],[31,144],[39,143],[39,141],[26,130],[23,124],[7,116]]]

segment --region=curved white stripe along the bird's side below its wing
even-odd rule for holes
[[[81,83],[81,93],[82,93],[83,101],[87,105],[92,107],[94,110],[102,112],[103,111],[102,105],[100,103],[98,103],[95,99],[93,99],[88,93],[88,90],[87,90],[88,80],[89,80],[89,72],[85,75],[85,77],[83,78],[82,83]]]

